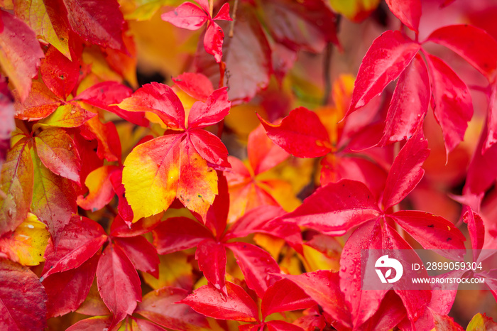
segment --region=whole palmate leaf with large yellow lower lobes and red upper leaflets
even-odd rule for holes
[[[226,147],[202,128],[228,114],[226,88],[212,92],[206,102],[195,102],[187,123],[180,99],[167,85],[145,85],[119,107],[153,112],[166,125],[183,131],[136,146],[124,161],[123,183],[133,222],[167,209],[175,197],[204,218],[218,193],[217,173],[211,166],[229,163]]]

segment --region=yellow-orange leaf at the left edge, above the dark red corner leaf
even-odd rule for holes
[[[37,266],[45,261],[50,233],[38,217],[28,213],[28,217],[15,231],[0,238],[0,255],[3,253],[23,266]]]

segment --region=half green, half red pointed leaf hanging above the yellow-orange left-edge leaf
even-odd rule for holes
[[[77,212],[75,183],[45,168],[40,158],[31,151],[34,165],[33,200],[31,212],[47,224],[57,245],[62,229]]]

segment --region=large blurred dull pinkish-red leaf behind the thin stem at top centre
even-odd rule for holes
[[[249,101],[257,92],[268,87],[272,65],[271,47],[253,6],[241,2],[236,17],[236,33],[226,38],[223,44],[223,62],[231,72],[229,82],[224,75],[222,84],[219,84],[219,65],[200,49],[195,57],[195,67],[197,72],[209,77],[214,86],[229,86],[229,99],[239,103]],[[228,22],[219,22],[219,25],[223,31],[230,29]]]

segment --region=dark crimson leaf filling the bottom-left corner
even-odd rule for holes
[[[43,330],[47,294],[28,268],[0,259],[0,325],[4,330]]]

